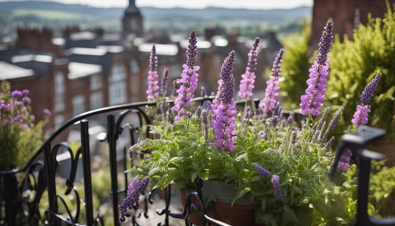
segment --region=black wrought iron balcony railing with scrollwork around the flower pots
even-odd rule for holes
[[[199,97],[195,98],[194,101],[196,103],[200,103],[203,105],[205,101],[212,100],[213,97]],[[258,107],[258,100],[253,101],[254,104]],[[244,102],[239,102],[238,104],[244,105]],[[91,178],[91,158],[90,158],[90,144],[89,144],[89,133],[88,133],[88,119],[92,116],[98,116],[107,114],[107,132],[106,135],[102,138],[99,138],[99,141],[105,142],[107,141],[109,144],[109,165],[110,165],[110,175],[111,175],[111,190],[109,194],[111,194],[112,201],[112,211],[113,211],[113,224],[118,226],[121,224],[121,219],[119,218],[119,196],[124,198],[126,196],[126,188],[128,186],[128,176],[124,174],[124,178],[118,178],[117,169],[117,140],[119,136],[124,131],[129,132],[130,144],[134,144],[136,142],[136,137],[143,131],[141,128],[150,124],[150,118],[147,116],[145,112],[146,106],[154,106],[156,103],[154,102],[139,102],[132,104],[122,104],[118,106],[112,106],[107,108],[101,108],[98,110],[92,110],[89,112],[85,112],[78,116],[75,116],[64,125],[62,125],[59,129],[57,129],[41,146],[41,148],[34,154],[34,156],[30,159],[30,161],[26,164],[23,169],[12,169],[8,171],[1,171],[0,177],[3,181],[4,188],[2,192],[2,197],[0,197],[0,205],[1,203],[5,203],[3,209],[6,211],[5,216],[0,216],[0,220],[2,222],[7,223],[8,225],[39,225],[39,224],[49,224],[49,225],[80,225],[80,212],[81,208],[85,208],[86,219],[85,222],[87,225],[104,225],[104,220],[101,213],[94,213],[93,211],[93,201],[92,201],[92,178]],[[114,113],[111,112],[119,112],[117,117],[115,118]],[[129,114],[134,114],[138,118],[137,125],[131,122],[125,122],[126,116]],[[284,111],[284,115],[289,114],[289,112]],[[302,120],[302,115],[297,115],[295,120]],[[59,142],[54,144],[54,141],[61,133],[64,133],[67,129],[69,129],[74,124],[80,125],[81,129],[81,147],[77,150],[75,156],[73,151],[70,148],[70,145],[66,142]],[[369,127],[364,127],[366,131],[369,130]],[[374,133],[373,133],[374,132]],[[351,147],[357,159],[363,164],[359,165],[360,174],[361,172],[367,173],[369,175],[370,161],[372,159],[382,159],[384,158],[379,154],[372,154],[366,150],[363,150],[363,146],[370,141],[374,141],[383,136],[383,131],[373,131],[369,133],[371,137],[369,137],[368,133],[354,133],[352,139],[350,136],[342,137],[341,145],[346,145],[347,147]],[[149,128],[145,130],[145,135],[149,136]],[[372,135],[375,134],[375,135]],[[362,141],[363,142],[362,142]],[[358,143],[359,142],[359,143]],[[340,147],[343,147],[340,146]],[[58,170],[58,161],[56,160],[56,156],[60,149],[66,150],[66,152],[70,153],[70,174],[66,180],[66,192],[64,195],[69,195],[71,193],[74,194],[75,199],[79,200],[83,198],[84,205],[81,206],[81,202],[77,201],[77,206],[75,209],[70,210],[66,205],[66,201],[62,194],[60,194],[56,189],[55,184],[55,176]],[[123,164],[122,171],[126,170],[126,150],[124,148],[123,155]],[[336,152],[336,159],[338,160],[342,148],[338,148]],[[84,184],[84,194],[85,197],[79,196],[79,191],[77,191],[74,186],[74,181],[77,172],[77,165],[82,156],[81,161],[83,165],[83,184]],[[41,157],[41,158],[40,158]],[[42,159],[43,158],[43,159]],[[335,161],[336,163],[337,161]],[[336,167],[336,165],[334,165]],[[334,168],[335,169],[335,168]],[[21,186],[17,186],[16,175],[25,175],[24,182]],[[364,180],[361,180],[364,178]],[[366,211],[366,201],[360,201],[367,199],[367,186],[368,186],[368,177],[360,177],[359,180],[359,194],[358,194],[358,217],[357,217],[357,225],[393,225],[395,221],[391,219],[377,220],[369,218]],[[121,189],[118,188],[119,180],[123,180],[125,182],[125,186]],[[93,182],[94,183],[94,182]],[[218,225],[218,226],[226,226],[223,222],[219,222],[218,220],[214,220],[207,215],[207,211],[202,202],[200,189],[202,187],[201,179],[196,179],[195,184],[197,187],[196,192],[192,192],[187,195],[186,202],[184,203],[184,211],[179,213],[174,213],[169,210],[169,204],[171,201],[171,189],[170,187],[165,188],[165,206],[161,210],[157,210],[158,215],[164,215],[164,221],[158,222],[157,225],[168,226],[169,218],[181,218],[185,220],[185,225],[192,225],[188,221],[188,214],[190,213],[190,205],[188,202],[192,197],[196,197],[199,202],[200,209],[203,215],[203,225]],[[48,201],[49,208],[45,210],[45,217],[42,218],[40,215],[39,203],[43,196],[44,191],[47,190],[48,193]],[[23,192],[26,193],[29,191],[33,194],[27,201],[23,202],[21,198],[21,194]],[[152,196],[155,193],[155,190],[151,190],[148,194],[146,194],[146,198],[143,200],[140,205],[134,206],[134,209],[137,210],[141,207],[139,211],[135,211],[134,215],[128,217],[131,218],[130,224],[132,225],[142,225],[142,222],[139,222],[139,218],[148,218],[148,208],[149,205],[152,205],[154,201],[152,200]],[[5,195],[4,195],[5,194]],[[59,213],[59,206],[64,206],[64,213]],[[27,213],[27,214],[26,214]],[[26,215],[24,221],[16,220],[22,219],[22,215]],[[66,215],[66,217],[65,217]],[[19,217],[18,217],[19,216]],[[361,222],[364,222],[363,224]],[[153,224],[150,224],[153,225]]]

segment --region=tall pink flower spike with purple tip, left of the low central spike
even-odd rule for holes
[[[189,37],[189,45],[186,51],[186,65],[182,65],[181,79],[178,81],[182,83],[179,89],[177,89],[178,97],[174,101],[173,110],[178,112],[178,116],[175,117],[176,121],[180,121],[181,117],[188,116],[187,108],[191,104],[191,99],[194,97],[194,92],[198,87],[198,74],[196,71],[199,70],[199,66],[195,66],[196,55],[196,33],[194,30],[191,31]]]

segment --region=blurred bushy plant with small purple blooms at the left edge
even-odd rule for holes
[[[34,125],[28,93],[28,90],[11,92],[9,82],[1,82],[0,170],[23,167],[43,143],[43,126],[48,118]],[[50,114],[47,109],[45,112]]]

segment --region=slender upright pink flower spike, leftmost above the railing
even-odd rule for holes
[[[158,72],[156,71],[156,67],[158,66],[158,57],[156,57],[156,47],[155,44],[152,45],[151,54],[149,58],[149,71],[147,78],[147,99],[149,101],[153,101],[156,97],[158,97]]]

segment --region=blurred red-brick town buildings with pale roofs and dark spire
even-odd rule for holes
[[[145,34],[134,0],[130,0],[122,24],[120,34],[106,34],[102,28],[80,31],[74,26],[66,27],[63,36],[57,38],[49,28],[19,28],[15,47],[0,51],[0,80],[8,80],[12,89],[29,89],[32,113],[40,120],[42,109],[48,108],[53,115],[47,127],[57,128],[88,110],[145,101],[149,54],[155,43],[160,77],[164,68],[169,68],[170,94],[172,82],[180,78],[186,62],[188,34]],[[207,28],[197,44],[199,87],[216,92],[222,63],[235,50],[237,93],[252,44],[252,39]],[[274,33],[261,36],[256,97],[264,96],[265,81],[260,75],[272,65],[281,47]]]

